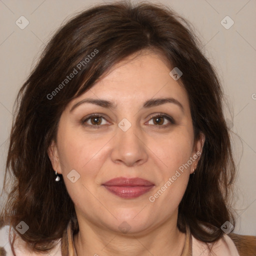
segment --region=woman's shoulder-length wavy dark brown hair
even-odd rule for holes
[[[11,227],[27,223],[29,229],[19,235],[31,250],[52,249],[68,221],[76,219],[63,178],[55,182],[47,154],[62,111],[114,64],[146,49],[161,52],[170,68],[182,71],[178,81],[189,98],[194,138],[205,136],[196,172],[189,176],[178,207],[177,227],[185,232],[188,225],[196,239],[211,243],[222,237],[225,221],[234,225],[229,197],[235,166],[214,67],[191,25],[169,7],[118,1],[94,5],[62,25],[15,100],[4,187],[7,173],[12,180],[4,216]],[[14,239],[15,234],[13,253]]]

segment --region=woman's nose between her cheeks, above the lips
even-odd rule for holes
[[[113,162],[127,166],[143,164],[148,158],[147,150],[145,138],[135,125],[126,131],[117,128],[111,151]]]

